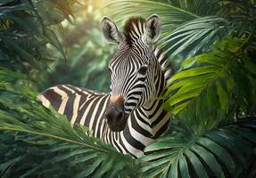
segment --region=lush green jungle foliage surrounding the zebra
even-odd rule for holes
[[[145,157],[72,127],[37,94],[58,84],[109,92],[103,15],[162,20],[175,69],[169,131]],[[256,177],[254,0],[1,0],[0,177]]]

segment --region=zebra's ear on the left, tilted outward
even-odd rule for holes
[[[120,43],[122,36],[115,22],[110,18],[103,17],[103,20],[101,21],[101,30],[107,42]]]

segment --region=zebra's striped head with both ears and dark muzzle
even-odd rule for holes
[[[111,19],[104,17],[101,30],[108,42],[119,44],[109,63],[111,98],[105,111],[110,129],[119,132],[133,110],[158,94],[156,77],[161,66],[154,55],[154,43],[160,36],[161,20],[156,14],[147,20],[133,17],[120,32]]]

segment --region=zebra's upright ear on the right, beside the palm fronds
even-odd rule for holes
[[[158,40],[160,33],[161,20],[157,14],[153,14],[145,21],[145,39],[149,43],[154,43]]]

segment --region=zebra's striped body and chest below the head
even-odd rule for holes
[[[52,105],[59,113],[66,115],[72,125],[78,123],[87,126],[94,137],[135,157],[143,156],[145,146],[159,137],[169,123],[169,115],[162,109],[162,101],[153,101],[134,110],[128,117],[125,129],[112,132],[103,116],[110,100],[108,93],[95,93],[72,85],[57,85],[45,90],[38,98],[45,107]]]

